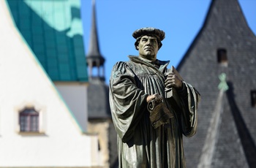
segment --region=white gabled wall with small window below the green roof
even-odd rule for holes
[[[97,135],[86,134],[86,96],[76,115],[79,101],[70,107],[70,97],[66,104],[6,1],[0,1],[0,37],[0,167],[100,167]],[[86,95],[86,85],[71,90]]]

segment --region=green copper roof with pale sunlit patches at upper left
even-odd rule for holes
[[[53,81],[88,81],[80,0],[7,0],[16,26]]]

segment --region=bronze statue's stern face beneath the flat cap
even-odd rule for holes
[[[140,57],[155,61],[157,59],[158,52],[157,38],[150,36],[141,37],[138,50]]]

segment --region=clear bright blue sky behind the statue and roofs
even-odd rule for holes
[[[256,34],[256,1],[238,2]],[[170,65],[178,66],[203,26],[210,4],[211,0],[96,0],[99,50],[106,59],[106,83],[117,61],[128,61],[128,55],[138,55],[132,33],[142,27],[165,31],[157,58],[170,60]],[[91,0],[81,0],[86,53],[91,31],[91,5]]]

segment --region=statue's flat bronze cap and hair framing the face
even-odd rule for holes
[[[157,38],[157,43],[158,43],[158,50],[160,47],[162,47],[162,40],[165,39],[165,32],[162,30],[159,30],[157,28],[151,28],[151,27],[146,27],[146,28],[140,28],[136,31],[133,32],[132,37],[136,39],[135,42],[135,49],[138,49],[138,45],[140,42],[141,37],[144,35],[151,36],[151,37],[156,37]]]

